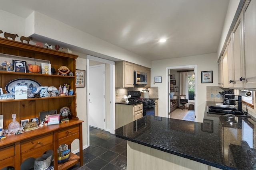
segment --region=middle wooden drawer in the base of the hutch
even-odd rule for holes
[[[53,133],[20,143],[20,152],[37,149],[53,143]]]

